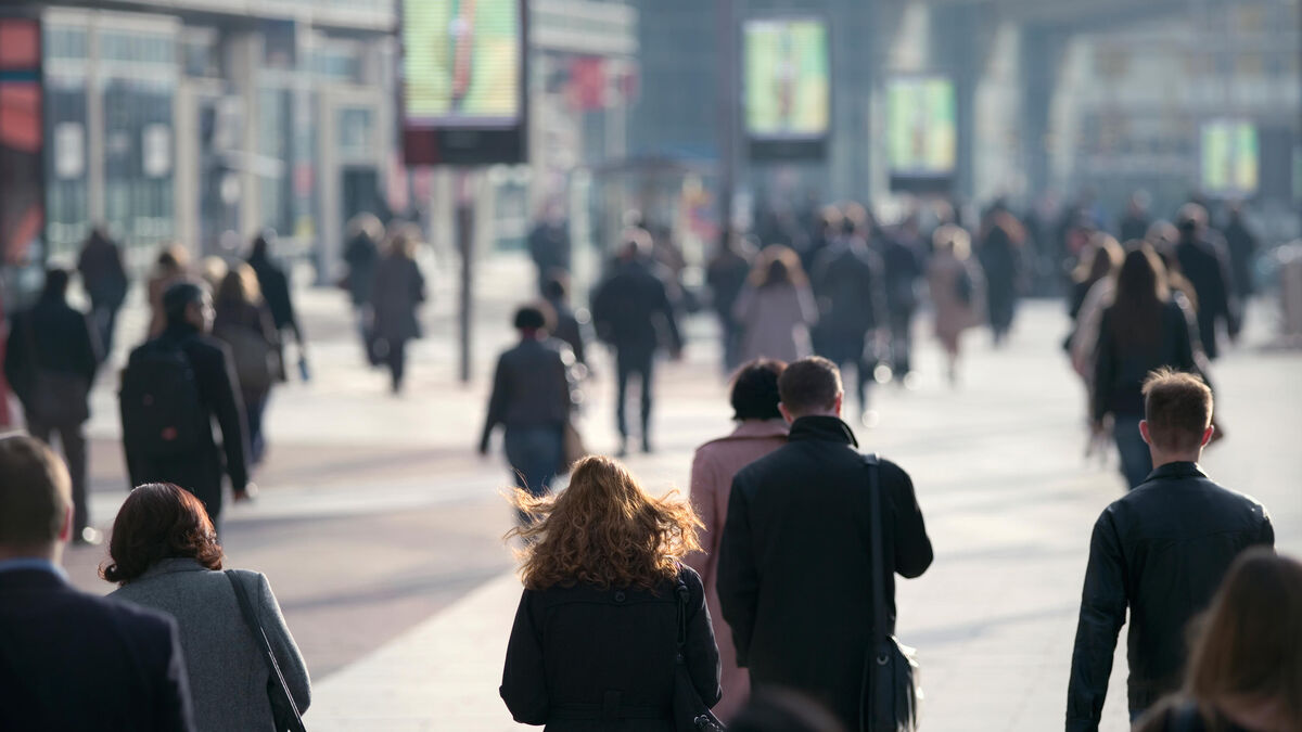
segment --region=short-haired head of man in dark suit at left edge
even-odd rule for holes
[[[0,559],[59,560],[72,538],[68,468],[27,435],[0,438]]]

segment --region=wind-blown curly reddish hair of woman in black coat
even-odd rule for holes
[[[533,524],[506,537],[525,539],[525,586],[575,582],[599,587],[655,587],[678,574],[678,561],[699,551],[700,518],[676,494],[651,498],[617,460],[589,456],[565,491],[535,496],[516,488],[512,503]]]

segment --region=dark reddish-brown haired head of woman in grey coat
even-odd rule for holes
[[[172,483],[146,483],[117,511],[108,561],[99,574],[125,585],[164,559],[194,559],[207,569],[221,569],[221,544],[194,494]]]

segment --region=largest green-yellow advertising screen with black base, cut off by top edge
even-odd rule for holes
[[[409,164],[523,159],[522,0],[402,0]]]

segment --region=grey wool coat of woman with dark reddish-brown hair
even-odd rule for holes
[[[267,577],[247,570],[237,570],[237,577],[267,632],[298,711],[306,711],[311,701],[307,664],[289,634]],[[271,671],[224,573],[207,569],[193,559],[164,559],[111,597],[176,617],[190,672],[197,731],[275,729],[267,699]]]

